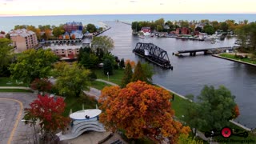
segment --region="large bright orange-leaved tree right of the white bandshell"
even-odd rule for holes
[[[174,120],[170,93],[146,82],[131,82],[125,88],[105,87],[98,102],[102,114],[100,122],[107,130],[125,130],[127,138],[147,137],[161,143],[168,138],[178,141],[180,134],[188,134],[190,128]]]

